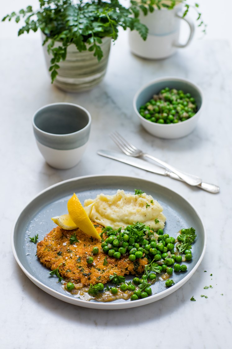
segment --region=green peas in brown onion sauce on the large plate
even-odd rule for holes
[[[146,258],[144,274],[126,282],[124,276],[114,273],[110,276],[111,287],[102,283],[82,287],[82,284],[75,284],[73,280],[62,281],[63,289],[74,297],[98,302],[137,300],[152,295],[151,285],[157,279],[165,281],[165,287],[171,287],[175,283],[171,280],[173,273],[186,272],[187,266],[183,262],[192,260],[191,248],[196,238],[193,228],[181,229],[175,239],[162,229],[154,232],[138,222],[128,225],[124,230],[106,227],[102,235],[103,233],[107,236],[102,239],[103,252],[115,259],[121,258],[121,255],[128,256],[133,262],[139,258]]]

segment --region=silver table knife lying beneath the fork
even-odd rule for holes
[[[161,174],[162,176],[168,176],[173,179],[181,180],[175,173],[167,171],[161,167],[155,166],[151,164],[150,162],[147,162],[145,160],[139,159],[137,157],[129,157],[125,154],[119,153],[118,151],[113,150],[98,150],[98,155],[108,157],[110,159],[114,159],[120,162],[124,162],[125,164],[138,167],[139,169],[143,169],[145,171]],[[219,192],[220,188],[217,185],[202,182],[198,185],[199,188],[209,192],[216,194]]]

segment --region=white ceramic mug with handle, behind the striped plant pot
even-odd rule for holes
[[[183,4],[179,3],[173,9],[154,9],[144,16],[140,14],[141,23],[149,29],[144,41],[136,30],[129,32],[129,46],[132,53],[147,59],[163,59],[173,55],[178,48],[190,44],[194,35],[194,24],[190,17],[182,17]],[[181,21],[189,24],[190,34],[185,44],[179,43]]]

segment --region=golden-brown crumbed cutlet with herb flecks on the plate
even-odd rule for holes
[[[95,222],[93,224],[98,233],[101,233],[102,226]],[[71,244],[69,239],[73,234],[76,234],[79,242]],[[113,273],[138,275],[144,272],[146,258],[136,259],[134,262],[128,260],[128,256],[115,259],[102,251],[101,243],[101,240],[86,235],[80,229],[64,230],[56,227],[37,244],[37,256],[47,268],[58,268],[62,277],[71,278],[84,286],[98,282],[105,284],[110,281],[110,275]],[[92,252],[95,246],[99,249],[97,254]],[[88,256],[94,258],[92,264],[87,263]],[[104,262],[105,258],[107,263]]]

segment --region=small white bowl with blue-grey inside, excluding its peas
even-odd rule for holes
[[[139,108],[148,102],[154,94],[157,94],[165,87],[183,90],[184,93],[190,93],[196,100],[197,113],[190,119],[178,122],[177,124],[158,124],[157,122],[152,122],[143,118],[139,113]],[[201,89],[193,82],[179,77],[163,77],[155,79],[139,89],[133,100],[135,113],[145,130],[153,136],[166,139],[182,138],[190,134],[197,125],[202,104],[203,94]]]

